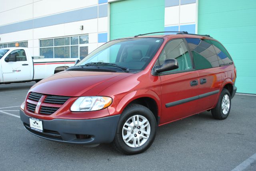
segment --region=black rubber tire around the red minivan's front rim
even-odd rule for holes
[[[122,138],[122,129],[123,129],[124,123],[126,123],[126,121],[134,115],[141,115],[143,117],[146,117],[146,119],[150,124],[150,135],[148,136],[148,139],[146,140],[146,142],[139,147],[130,147],[126,145],[126,143]],[[156,129],[157,129],[156,118],[154,117],[154,114],[152,113],[152,111],[150,111],[150,109],[139,104],[128,105],[122,112],[120,119],[118,121],[116,135],[114,138],[114,145],[116,146],[118,151],[126,155],[143,153],[152,145],[156,137]]]

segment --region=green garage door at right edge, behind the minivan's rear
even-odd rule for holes
[[[237,68],[237,92],[256,94],[256,1],[199,0],[198,34],[227,48]]]

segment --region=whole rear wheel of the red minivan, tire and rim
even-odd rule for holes
[[[231,108],[231,98],[229,91],[224,88],[220,93],[220,98],[215,108],[211,109],[212,116],[215,119],[226,119]]]

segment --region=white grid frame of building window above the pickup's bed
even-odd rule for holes
[[[53,48],[53,58],[47,58],[47,59],[54,59],[55,58],[55,48],[64,47],[64,49],[65,49],[65,47],[69,47],[69,58],[61,58],[61,59],[70,59],[71,58],[71,46],[78,46],[78,58],[80,59],[80,54],[79,54],[80,45],[85,45],[85,44],[80,44],[80,36],[88,36],[88,43],[86,43],[88,45],[89,44],[89,34],[80,34],[80,35],[72,35],[72,36],[62,36],[62,37],[39,39],[39,54],[40,54],[40,49],[42,49],[42,48]],[[72,37],[78,37],[78,44],[71,44]],[[69,38],[69,45],[55,46],[55,39],[58,39],[58,38]],[[53,46],[40,47],[41,40],[50,40],[50,39],[53,39]],[[40,54],[40,56],[41,56],[41,54]]]

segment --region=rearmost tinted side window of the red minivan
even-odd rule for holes
[[[217,53],[220,65],[232,63],[232,58],[228,54],[228,51],[226,51],[226,49],[219,42],[216,42],[214,40],[211,40],[211,42]]]

